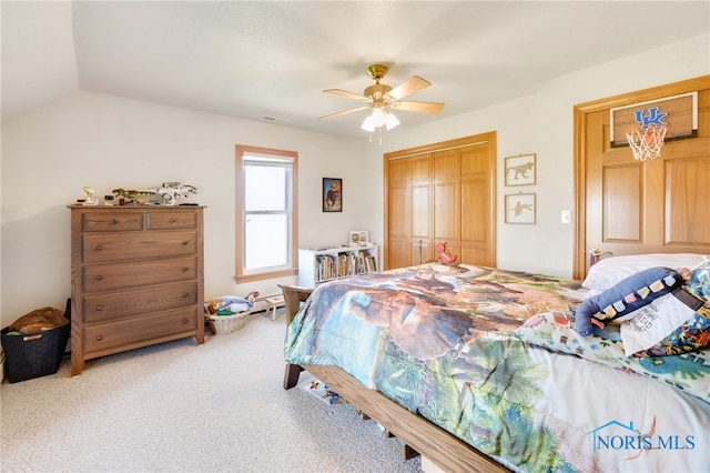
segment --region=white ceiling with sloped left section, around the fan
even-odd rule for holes
[[[362,138],[364,111],[317,118],[357,107],[323,90],[362,93],[372,63],[446,103],[397,112],[406,129],[708,31],[708,1],[3,0],[2,121],[81,89]]]

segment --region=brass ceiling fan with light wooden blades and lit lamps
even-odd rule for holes
[[[407,112],[420,112],[436,114],[442,111],[444,103],[440,102],[412,102],[402,101],[405,97],[432,85],[432,82],[422,79],[418,76],[413,76],[394,89],[379,81],[387,73],[388,68],[382,64],[373,64],[367,68],[367,73],[375,80],[373,85],[365,89],[362,95],[353,92],[347,92],[341,89],[327,89],[324,92],[334,93],[336,95],[346,97],[348,99],[357,100],[363,105],[354,109],[343,110],[341,112],[331,113],[325,117],[321,117],[318,120],[327,120],[335,117],[341,117],[347,113],[356,112],[359,110],[371,109],[369,114],[365,118],[362,128],[369,132],[375,131],[375,128],[379,128],[383,124],[387,130],[392,130],[399,124],[399,120],[392,113],[392,110],[404,110]]]

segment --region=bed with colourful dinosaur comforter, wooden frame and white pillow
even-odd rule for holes
[[[710,272],[698,254],[602,263],[587,285]],[[444,471],[710,471],[710,353],[579,336],[575,310],[604,288],[434,263],[282,289],[284,388],[307,370]]]

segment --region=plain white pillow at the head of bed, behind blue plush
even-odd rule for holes
[[[678,268],[693,269],[707,260],[704,254],[696,253],[649,253],[626,256],[609,256],[592,265],[581,283],[587,289],[606,291],[619,281],[655,266],[672,270]]]

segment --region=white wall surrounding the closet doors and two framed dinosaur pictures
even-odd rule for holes
[[[560,212],[574,209],[574,105],[709,73],[710,34],[702,34],[540,83],[530,97],[395,130],[385,135],[382,149],[369,150],[369,159],[382,168],[385,152],[497,131],[497,265],[569,278],[574,225],[560,223]],[[537,153],[537,184],[506,188],[504,160],[519,153]],[[535,225],[504,223],[504,195],[519,190],[537,193]]]

